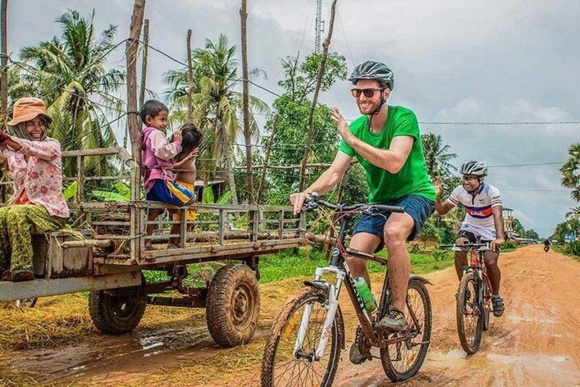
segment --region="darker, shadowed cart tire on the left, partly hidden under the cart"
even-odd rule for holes
[[[138,288],[127,294],[111,294],[94,290],[88,295],[90,319],[104,334],[125,334],[137,327],[147,303]]]

